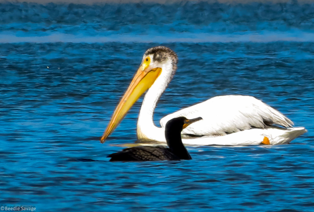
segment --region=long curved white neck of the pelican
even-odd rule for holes
[[[164,63],[160,76],[148,89],[138,115],[137,137],[138,140],[152,140],[166,142],[165,129],[154,124],[154,110],[156,104],[173,77],[173,65],[171,62]]]

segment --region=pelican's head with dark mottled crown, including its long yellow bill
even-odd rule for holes
[[[101,143],[105,142],[132,105],[160,76],[168,79],[167,84],[171,81],[176,72],[177,62],[176,53],[165,46],[156,46],[145,52],[141,65],[111,116],[105,133],[101,137]]]

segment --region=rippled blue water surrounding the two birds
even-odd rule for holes
[[[0,206],[36,211],[314,211],[314,4],[0,3]],[[99,139],[146,49],[178,71],[155,121],[252,95],[308,133],[289,145],[188,146],[190,161],[108,162]]]

